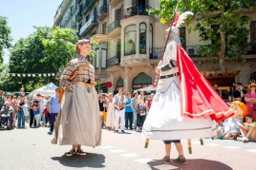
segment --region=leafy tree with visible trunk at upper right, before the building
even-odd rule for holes
[[[220,69],[225,70],[224,58],[241,59],[246,48],[255,42],[248,42],[247,28],[250,17],[245,10],[255,10],[255,0],[185,0],[179,1],[180,10],[195,13],[197,25],[194,30],[200,31],[201,41],[212,43],[200,47],[199,53],[205,57],[218,57]],[[177,1],[160,0],[161,9],[152,9],[151,13],[161,16],[160,22],[165,23],[173,17]],[[192,18],[188,18],[190,24]]]

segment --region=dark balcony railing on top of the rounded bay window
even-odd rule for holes
[[[123,18],[128,18],[135,15],[149,15],[147,9],[152,9],[150,6],[129,6],[123,9]],[[154,17],[154,15],[150,15]]]

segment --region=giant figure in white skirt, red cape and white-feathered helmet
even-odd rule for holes
[[[192,12],[176,14],[156,72],[157,93],[143,124],[142,136],[151,140],[186,140],[216,135],[216,123],[233,111],[200,74],[181,47],[179,28]]]

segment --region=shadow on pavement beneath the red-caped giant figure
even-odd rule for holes
[[[232,170],[232,168],[220,161],[210,161],[203,159],[186,160],[186,164],[180,164],[171,161],[170,164],[165,164],[160,160],[149,161],[147,164],[153,170],[195,170],[195,169],[220,169],[220,170]]]

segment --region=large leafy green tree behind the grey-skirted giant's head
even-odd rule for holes
[[[59,69],[75,57],[75,43],[77,42],[74,29],[34,28],[35,31],[31,35],[27,38],[21,38],[11,48],[10,72],[54,73],[54,76],[11,77],[12,82],[22,82],[27,91],[49,82],[58,84]],[[71,50],[72,56],[69,50]]]

